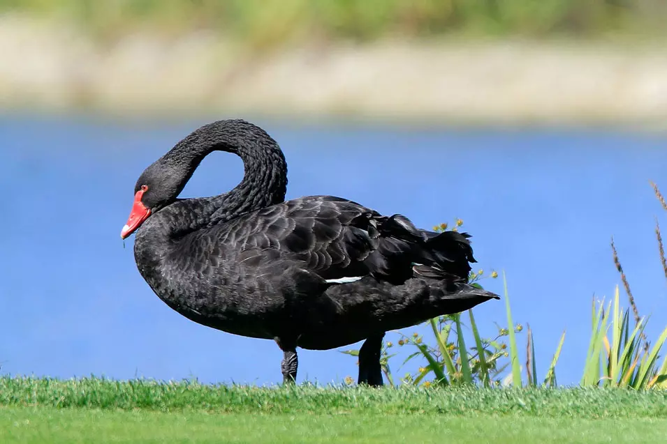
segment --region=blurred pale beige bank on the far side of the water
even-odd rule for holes
[[[383,40],[261,55],[203,32],[104,46],[72,27],[2,15],[0,52],[3,114],[667,129],[659,45]]]

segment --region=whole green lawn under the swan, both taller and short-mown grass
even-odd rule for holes
[[[636,443],[667,392],[0,378],[1,443]]]

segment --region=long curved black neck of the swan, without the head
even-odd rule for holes
[[[219,196],[182,199],[167,206],[165,209],[176,210],[183,217],[179,227],[173,229],[194,231],[284,201],[287,188],[284,155],[272,137],[246,121],[227,120],[204,125],[155,163],[166,167],[163,172],[168,174],[178,176],[178,171],[182,172],[181,177],[175,178],[177,195],[200,162],[213,151],[238,155],[244,164],[243,180],[233,190]]]

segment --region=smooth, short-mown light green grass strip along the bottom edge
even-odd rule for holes
[[[647,443],[667,420],[0,408],[3,443]]]

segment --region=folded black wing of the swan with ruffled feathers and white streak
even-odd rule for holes
[[[304,197],[263,208],[238,218],[226,232],[226,240],[235,243],[244,256],[250,251],[277,250],[281,260],[298,262],[330,283],[368,275],[402,283],[414,273],[453,271],[467,277],[472,250],[465,235],[455,236],[454,243],[444,243],[447,239],[417,229],[402,215],[383,216],[331,196]],[[440,246],[437,252],[431,251],[432,245]]]

